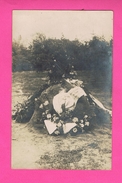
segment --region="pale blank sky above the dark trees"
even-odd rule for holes
[[[40,11],[14,10],[12,37],[29,45],[36,33],[46,38],[89,41],[93,35],[109,41],[113,36],[112,11]]]

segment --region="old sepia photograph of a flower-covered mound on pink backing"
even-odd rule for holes
[[[112,11],[13,10],[12,169],[112,169],[112,54]]]

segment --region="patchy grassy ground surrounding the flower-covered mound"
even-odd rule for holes
[[[15,72],[12,86],[12,111],[17,103],[39,90],[47,80],[46,72]],[[88,73],[78,78],[108,109],[111,109],[111,90],[92,85]],[[111,122],[97,125],[89,133],[78,136],[49,136],[46,129],[35,130],[28,124],[12,122],[12,168],[18,169],[82,169],[110,170],[112,156]]]

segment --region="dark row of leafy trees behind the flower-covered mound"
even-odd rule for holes
[[[16,71],[49,71],[57,61],[62,72],[68,72],[72,65],[75,70],[88,71],[96,75],[111,77],[112,39],[93,36],[90,41],[70,41],[46,38],[37,34],[32,43],[26,47],[21,41],[12,44],[12,70]]]

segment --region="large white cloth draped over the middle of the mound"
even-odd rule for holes
[[[53,98],[54,110],[60,115],[63,112],[62,106],[64,105],[65,109],[73,111],[78,99],[82,96],[86,96],[86,93],[78,86],[72,88],[67,93],[61,92]]]

